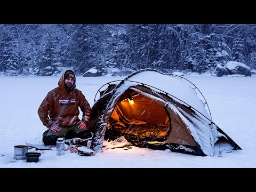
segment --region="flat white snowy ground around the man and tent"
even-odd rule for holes
[[[203,93],[213,122],[243,150],[214,157],[199,157],[132,147],[108,149],[95,156],[79,156],[65,151],[41,151],[37,163],[15,160],[14,146],[25,142],[42,143],[46,130],[37,109],[46,93],[57,87],[59,77],[0,77],[3,87],[0,112],[0,167],[256,167],[256,77],[185,76]],[[77,89],[83,91],[92,106],[94,96],[105,83],[122,77],[77,77]],[[159,82],[166,83],[168,82]],[[34,149],[31,149],[34,150]],[[31,151],[30,150],[30,151]]]

